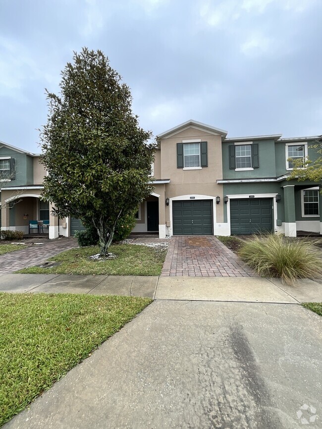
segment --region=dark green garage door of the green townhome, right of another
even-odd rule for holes
[[[258,234],[272,231],[271,198],[230,200],[230,233]]]

